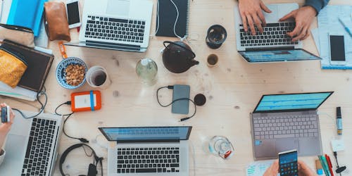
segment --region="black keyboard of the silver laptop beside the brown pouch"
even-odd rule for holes
[[[143,43],[145,27],[146,22],[144,20],[106,18],[89,15],[84,37]]]

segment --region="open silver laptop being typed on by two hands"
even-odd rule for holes
[[[287,32],[294,30],[294,20],[279,22],[287,13],[298,8],[298,4],[266,4],[272,13],[265,13],[267,25],[260,33],[256,27],[256,35],[250,30],[244,31],[238,6],[234,8],[234,23],[237,51],[249,63],[266,63],[282,61],[320,60],[318,56],[302,49],[301,41],[292,42]]]

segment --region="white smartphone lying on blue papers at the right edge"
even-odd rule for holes
[[[329,51],[331,65],[346,65],[344,35],[329,34]]]

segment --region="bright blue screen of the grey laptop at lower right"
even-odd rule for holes
[[[332,92],[263,95],[254,113],[268,111],[315,110]]]

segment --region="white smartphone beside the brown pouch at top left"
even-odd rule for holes
[[[66,12],[68,17],[68,27],[70,29],[80,27],[81,25],[81,13],[78,0],[67,0],[66,1]]]

